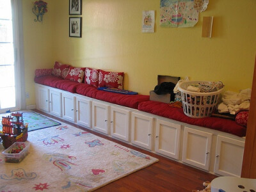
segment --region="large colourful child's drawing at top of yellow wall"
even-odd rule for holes
[[[199,12],[194,6],[194,0],[161,0],[160,26],[171,28],[195,26]]]

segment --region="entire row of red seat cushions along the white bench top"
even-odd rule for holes
[[[124,95],[120,93],[97,90],[95,86],[86,83],[77,83],[55,76],[35,77],[35,83],[44,84],[70,93],[77,93],[93,99],[103,100],[132,109],[138,109],[157,116],[163,116],[186,124],[198,125],[218,131],[228,132],[239,137],[246,134],[246,127],[237,124],[234,120],[218,117],[190,118],[182,108],[173,108],[169,104],[149,100],[148,95]]]

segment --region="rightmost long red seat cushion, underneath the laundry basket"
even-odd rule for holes
[[[243,137],[246,134],[246,127],[238,125],[234,120],[218,117],[191,118],[186,116],[182,108],[172,108],[168,104],[157,101],[141,102],[138,106],[140,111],[152,113],[158,116],[171,118],[186,124],[198,125],[218,131],[228,132]]]

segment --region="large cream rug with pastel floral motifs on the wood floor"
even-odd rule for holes
[[[64,123],[28,142],[20,163],[5,163],[0,145],[0,191],[93,191],[158,161]]]

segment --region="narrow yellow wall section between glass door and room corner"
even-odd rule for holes
[[[43,17],[43,23],[35,22],[32,13],[35,1],[23,0],[23,35],[24,35],[24,72],[26,92],[29,98],[27,105],[35,104],[35,69],[52,68],[54,45],[54,0],[47,0],[48,12]]]

